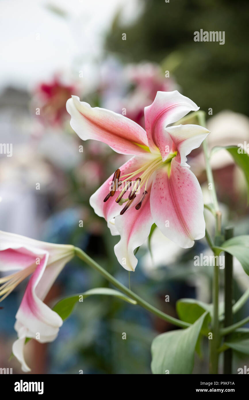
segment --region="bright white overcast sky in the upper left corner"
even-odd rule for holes
[[[48,4],[66,16],[51,12]],[[75,70],[77,62],[89,68],[120,8],[122,20],[132,21],[139,0],[1,0],[0,88],[32,88],[56,71]]]

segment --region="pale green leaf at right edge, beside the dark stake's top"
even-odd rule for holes
[[[236,257],[245,273],[249,275],[249,235],[235,236],[235,238],[228,239],[221,246],[215,248]]]

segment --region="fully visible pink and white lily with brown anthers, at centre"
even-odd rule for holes
[[[111,233],[121,236],[114,251],[126,270],[135,270],[134,250],[145,242],[153,222],[183,248],[205,235],[203,196],[186,156],[209,131],[199,125],[169,126],[198,109],[177,90],[157,92],[144,109],[145,132],[125,116],[92,108],[77,96],[67,101],[71,126],[80,138],[99,140],[118,153],[133,155],[90,198]]]

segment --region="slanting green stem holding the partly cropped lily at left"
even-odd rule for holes
[[[171,324],[173,324],[173,325],[180,326],[181,328],[187,328],[188,326],[191,325],[188,322],[184,322],[184,321],[178,320],[177,318],[171,317],[170,315],[165,314],[164,312],[151,306],[151,304],[147,303],[145,300],[143,300],[141,297],[137,296],[137,294],[135,294],[134,292],[129,290],[122,283],[118,282],[118,280],[116,280],[114,278],[114,276],[109,274],[109,272],[107,272],[104,268],[102,268],[97,262],[95,262],[91,257],[89,257],[80,248],[78,248],[78,247],[75,248],[75,255],[78,258],[80,258],[81,260],[83,260],[84,262],[86,262],[86,264],[90,265],[95,270],[97,270],[102,276],[104,276],[104,278],[106,278],[109,282],[111,282],[114,286],[116,286],[116,288],[118,288],[124,294],[126,294],[127,296],[129,296],[130,298],[135,300],[137,302],[137,304],[139,304],[141,307],[145,308],[149,312],[152,312],[157,317],[161,318],[164,321],[171,322]]]

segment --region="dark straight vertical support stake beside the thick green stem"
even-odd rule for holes
[[[233,237],[233,228],[225,228],[225,240]],[[233,323],[233,256],[225,252],[225,320],[224,326],[227,327]],[[229,338],[229,335],[225,336],[224,340]],[[232,358],[233,350],[231,348],[224,352],[224,365],[223,373],[232,373]]]

